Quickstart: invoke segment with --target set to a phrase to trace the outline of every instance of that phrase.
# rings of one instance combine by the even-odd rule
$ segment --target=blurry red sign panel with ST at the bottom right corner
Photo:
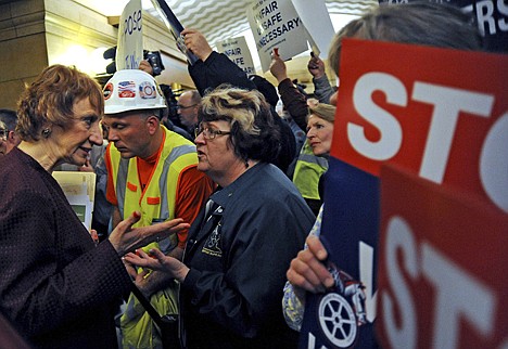
[[[409,172],[381,170],[382,348],[503,348],[508,215]]]

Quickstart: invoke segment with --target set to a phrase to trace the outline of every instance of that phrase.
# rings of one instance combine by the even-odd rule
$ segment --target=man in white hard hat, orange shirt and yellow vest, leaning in
[[[188,223],[198,216],[213,191],[212,181],[198,171],[195,145],[161,124],[166,103],[155,79],[139,69],[116,72],[104,87],[103,127],[109,133],[105,160],[107,199],[115,206],[113,227],[132,211],[137,225],[173,218]],[[166,255],[181,259],[187,231],[158,242]],[[154,243],[156,244],[156,243]],[[158,272],[131,271],[138,288],[150,297],[161,315],[177,313],[177,285]],[[150,315],[130,295],[120,319],[123,347],[160,348],[161,337]]]

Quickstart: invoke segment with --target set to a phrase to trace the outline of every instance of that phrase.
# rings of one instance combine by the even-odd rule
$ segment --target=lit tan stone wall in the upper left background
[[[98,49],[115,46],[117,30],[114,18],[72,0],[1,1],[0,107],[15,108],[24,85],[48,65],[76,65],[91,76],[105,72],[107,62],[97,59]],[[169,30],[147,13],[143,41],[145,50],[162,52],[166,69],[156,78],[160,83],[193,86]]]

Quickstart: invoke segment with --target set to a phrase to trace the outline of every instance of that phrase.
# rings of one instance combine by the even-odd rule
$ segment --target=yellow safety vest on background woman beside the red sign
[[[296,166],[294,167],[293,183],[305,198],[320,199],[319,178],[328,170],[328,160],[316,156],[308,141],[302,146]]]

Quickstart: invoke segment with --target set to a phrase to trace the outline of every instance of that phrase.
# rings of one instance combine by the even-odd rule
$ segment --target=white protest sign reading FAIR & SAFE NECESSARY
[[[291,0],[255,0],[246,15],[263,72],[270,67],[274,49],[284,61],[308,49],[305,27]]]

